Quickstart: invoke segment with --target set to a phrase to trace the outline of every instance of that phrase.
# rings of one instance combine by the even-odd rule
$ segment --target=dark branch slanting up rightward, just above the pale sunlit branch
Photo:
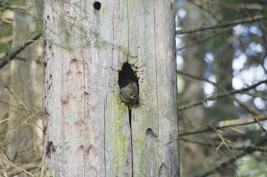
[[[181,111],[183,109],[187,109],[187,108],[191,108],[191,107],[194,107],[196,105],[200,105],[200,104],[203,104],[209,100],[215,100],[215,99],[218,99],[218,98],[222,98],[222,97],[226,97],[228,95],[234,95],[236,93],[242,93],[242,92],[246,92],[248,90],[251,90],[255,87],[257,87],[258,85],[260,84],[263,84],[263,83],[267,83],[267,79],[266,80],[263,80],[263,81],[260,81],[254,85],[251,85],[247,88],[243,88],[243,89],[240,89],[240,90],[231,90],[231,91],[228,91],[228,92],[222,92],[222,93],[218,93],[218,94],[215,94],[215,95],[212,95],[208,98],[205,98],[203,100],[199,100],[199,101],[196,101],[196,102],[192,102],[192,103],[189,103],[189,104],[186,104],[186,105],[182,105],[182,106],[179,106],[178,107],[178,111]]]

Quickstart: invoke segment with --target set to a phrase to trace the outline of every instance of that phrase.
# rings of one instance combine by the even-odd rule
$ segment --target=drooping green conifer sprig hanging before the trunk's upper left
[[[129,58],[133,57],[131,53],[129,52],[128,48],[124,46],[119,46],[107,40],[104,40],[101,34],[98,32],[98,30],[94,27],[93,23],[88,20],[88,12],[82,9],[78,4],[66,2],[66,1],[62,2],[63,3],[62,6],[64,6],[64,4],[67,4],[74,10],[74,12],[77,13],[77,17],[76,17],[76,16],[65,14],[65,12],[61,12],[59,9],[57,9],[57,7],[53,4],[52,1],[48,0],[45,3],[49,3],[51,8],[55,10],[55,12],[58,14],[59,17],[61,17],[62,22],[63,22],[62,24],[64,25],[64,28],[65,28],[64,31],[62,32],[65,34],[66,40],[68,40],[68,38],[73,37],[74,35],[78,35],[81,45],[82,43],[85,42],[89,44],[90,46],[94,48],[98,48],[98,49],[111,48],[111,49],[115,49],[117,51],[122,52],[123,55]],[[34,8],[34,6],[32,8]],[[37,8],[35,7],[35,9]],[[52,33],[53,35],[60,36],[53,29],[51,29],[50,27],[47,27],[47,25],[42,21],[42,17],[39,17],[39,12],[37,10],[35,10],[34,13],[35,13],[34,17],[36,18],[35,20],[36,22],[38,22],[39,28],[43,33],[43,37],[47,40],[47,42],[51,45],[55,45],[59,48],[63,48],[71,52],[72,51],[71,47],[56,43],[53,36],[50,36],[47,33],[44,33],[44,31],[42,30],[43,27],[49,30],[50,33]],[[90,24],[90,27],[82,23],[85,20],[86,22]]]

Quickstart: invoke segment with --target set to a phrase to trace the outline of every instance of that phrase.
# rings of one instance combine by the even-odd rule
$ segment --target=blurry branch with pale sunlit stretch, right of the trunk
[[[232,120],[226,120],[226,121],[219,121],[217,123],[207,125],[207,126],[196,126],[194,127],[194,129],[191,129],[191,130],[181,130],[179,132],[179,135],[184,136],[184,135],[189,135],[189,134],[212,131],[214,129],[221,129],[221,128],[225,128],[229,126],[247,125],[247,124],[252,124],[252,123],[258,123],[258,121],[264,121],[264,120],[267,120],[267,114],[252,116],[252,117],[244,118],[244,119],[232,119]]]

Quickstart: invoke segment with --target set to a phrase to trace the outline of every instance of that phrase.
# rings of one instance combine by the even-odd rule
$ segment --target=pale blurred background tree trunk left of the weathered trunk
[[[36,3],[36,1],[35,1]],[[32,1],[23,0],[20,4],[26,7],[32,5]],[[39,7],[40,8],[40,7]],[[23,10],[22,10],[23,11]],[[14,19],[13,42],[23,42],[25,33],[34,31],[36,25],[29,14],[33,11],[16,12]],[[40,39],[41,40],[41,39]],[[9,138],[13,142],[7,148],[9,160],[14,163],[28,163],[36,158],[36,154],[42,154],[42,121],[36,119],[38,110],[41,113],[42,82],[40,64],[42,46],[29,46],[17,55],[24,59],[10,61],[10,103],[14,107],[9,116]],[[30,58],[25,58],[30,56]],[[39,73],[39,74],[38,74]],[[27,82],[25,82],[27,81]],[[37,122],[36,122],[37,121]],[[18,128],[18,129],[17,129]],[[37,132],[39,131],[39,134]]]

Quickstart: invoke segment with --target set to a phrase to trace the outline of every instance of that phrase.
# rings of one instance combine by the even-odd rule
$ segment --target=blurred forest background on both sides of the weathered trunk
[[[267,174],[266,5],[176,1],[181,176]],[[41,9],[0,0],[1,176],[40,172]]]

